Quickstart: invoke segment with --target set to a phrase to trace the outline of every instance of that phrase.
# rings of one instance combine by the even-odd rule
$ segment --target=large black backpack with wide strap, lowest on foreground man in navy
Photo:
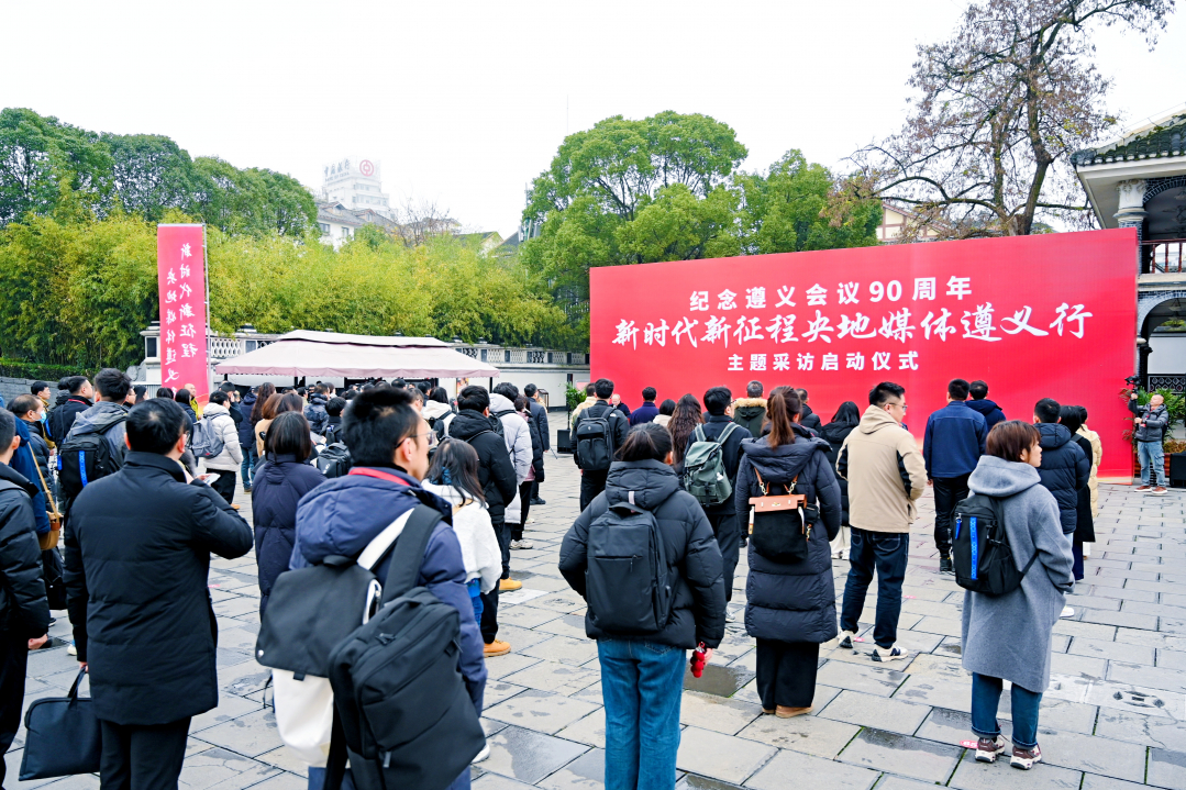
[[[458,665],[458,611],[415,586],[440,518],[423,504],[413,510],[391,553],[381,609],[330,655],[340,732],[336,726],[325,790],[338,790],[347,756],[359,790],[444,790],[485,746]]]

